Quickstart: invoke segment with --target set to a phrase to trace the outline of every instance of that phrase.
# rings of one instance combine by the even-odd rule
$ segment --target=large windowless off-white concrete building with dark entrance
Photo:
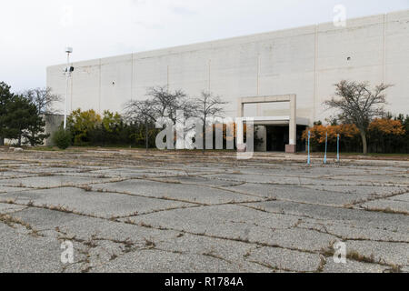
[[[263,125],[262,150],[284,150],[295,145],[306,125],[332,115],[323,102],[343,79],[393,84],[387,109],[409,113],[409,10],[348,19],[345,26],[310,25],[74,66],[69,111],[121,112],[126,101],[144,99],[146,88],[155,85],[192,96],[207,90],[228,102],[226,115],[254,116]],[[47,68],[47,85],[60,95],[65,95],[64,69]],[[287,103],[293,97],[295,112]]]

